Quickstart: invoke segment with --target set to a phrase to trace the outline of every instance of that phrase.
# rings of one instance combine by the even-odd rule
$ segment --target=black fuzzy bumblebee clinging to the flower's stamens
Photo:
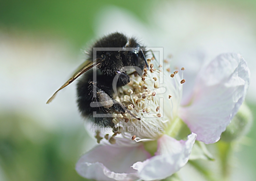
[[[96,51],[96,61],[93,59],[93,48],[89,50],[89,56],[76,73],[60,87],[59,90],[72,83],[77,77],[83,74],[77,83],[77,104],[82,116],[90,118],[94,123],[102,126],[113,126],[112,118],[109,117],[93,117],[93,112],[100,114],[108,114],[110,110],[117,113],[124,113],[124,108],[120,103],[116,102],[113,97],[114,90],[112,87],[113,80],[119,74],[116,81],[117,88],[120,88],[130,82],[130,76],[126,72],[120,70],[126,66],[136,66],[143,69],[148,67],[146,61],[145,47],[141,46],[135,38],[127,38],[122,33],[112,33],[102,37],[92,46],[94,48],[102,48],[102,51]],[[104,51],[104,48],[119,48],[119,51]],[[94,60],[94,61],[93,61]],[[96,66],[96,82],[93,81],[93,69]],[[93,96],[93,87],[96,86],[96,96]],[[55,97],[57,90],[53,96],[47,101],[47,104]],[[107,105],[101,105],[98,102],[105,101]],[[97,106],[91,106],[91,103]],[[98,104],[97,104],[98,103]]]

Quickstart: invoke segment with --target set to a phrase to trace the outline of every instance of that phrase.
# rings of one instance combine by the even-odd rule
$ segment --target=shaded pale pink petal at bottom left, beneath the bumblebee
[[[85,153],[76,163],[82,177],[100,181],[131,181],[139,179],[131,166],[148,158],[143,146],[114,147],[99,145]]]

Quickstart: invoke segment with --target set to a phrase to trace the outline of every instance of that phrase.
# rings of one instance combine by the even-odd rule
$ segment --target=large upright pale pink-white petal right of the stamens
[[[240,54],[221,54],[202,68],[196,78],[189,106],[180,108],[180,118],[197,140],[215,143],[244,101],[250,70]]]

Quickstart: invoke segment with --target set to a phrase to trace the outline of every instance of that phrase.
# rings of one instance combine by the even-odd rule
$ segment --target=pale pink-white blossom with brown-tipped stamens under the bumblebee
[[[131,95],[120,98],[120,101],[127,100],[124,104],[136,116],[125,114],[114,118],[116,125],[129,125],[134,130],[121,129],[120,134],[103,138],[100,145],[85,153],[76,164],[81,176],[120,181],[160,180],[171,176],[187,163],[195,140],[209,144],[220,139],[249,87],[250,71],[246,61],[239,54],[221,54],[198,72],[193,93],[185,101],[188,104],[181,106],[181,83],[184,82],[181,70],[170,76],[168,64],[164,65],[164,84],[158,84],[159,71],[154,68],[158,69],[159,65],[156,61],[152,63],[154,67],[144,75],[145,80],[140,76],[131,77],[132,82],[124,89],[124,94]],[[163,107],[160,98],[163,98]],[[186,140],[175,139],[183,131],[181,120],[191,131]],[[136,126],[141,125],[151,127],[136,130]]]

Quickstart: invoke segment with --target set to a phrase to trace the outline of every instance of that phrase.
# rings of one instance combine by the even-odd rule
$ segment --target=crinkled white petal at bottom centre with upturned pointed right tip
[[[132,168],[138,170],[140,179],[145,181],[169,177],[188,162],[195,140],[195,133],[189,135],[186,141],[177,141],[163,135],[157,140],[156,155],[143,162],[133,164]]]

